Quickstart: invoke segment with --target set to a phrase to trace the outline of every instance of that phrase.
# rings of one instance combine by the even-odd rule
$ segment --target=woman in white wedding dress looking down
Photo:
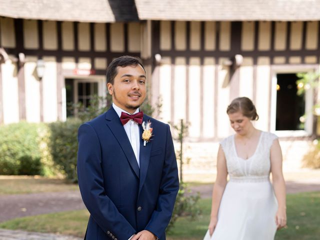
[[[277,136],[254,128],[251,120],[257,120],[258,115],[247,97],[233,99],[226,113],[235,134],[220,142],[210,223],[204,240],[274,239],[276,229],[286,225],[282,154]]]

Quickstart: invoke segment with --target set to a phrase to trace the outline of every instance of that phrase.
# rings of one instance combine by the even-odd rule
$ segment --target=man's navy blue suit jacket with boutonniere
[[[79,127],[78,183],[90,212],[86,239],[127,240],[143,229],[165,239],[179,188],[177,165],[169,126],[144,115],[148,120],[153,136],[145,146],[140,139],[140,168],[112,107]]]

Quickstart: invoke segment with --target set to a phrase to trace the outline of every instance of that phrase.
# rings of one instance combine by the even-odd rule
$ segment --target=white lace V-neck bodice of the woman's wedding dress
[[[220,142],[230,179],[265,180],[270,174],[270,148],[277,136],[270,132],[261,131],[255,152],[248,159],[237,156],[234,136],[231,135]]]

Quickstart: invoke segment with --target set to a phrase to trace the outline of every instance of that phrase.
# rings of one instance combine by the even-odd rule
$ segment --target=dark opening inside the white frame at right
[[[303,130],[300,116],[305,112],[305,97],[297,95],[295,73],[276,74],[276,116],[275,130]]]

